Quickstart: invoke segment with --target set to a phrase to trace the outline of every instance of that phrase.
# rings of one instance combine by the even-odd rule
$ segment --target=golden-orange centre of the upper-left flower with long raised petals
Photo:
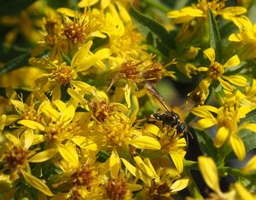
[[[70,83],[75,77],[75,72],[66,63],[62,63],[55,71],[53,71],[55,81],[61,84]]]

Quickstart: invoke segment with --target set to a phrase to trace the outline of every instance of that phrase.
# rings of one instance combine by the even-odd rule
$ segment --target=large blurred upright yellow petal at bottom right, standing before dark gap
[[[198,164],[203,179],[213,191],[219,193],[218,170],[211,157],[198,157]]]

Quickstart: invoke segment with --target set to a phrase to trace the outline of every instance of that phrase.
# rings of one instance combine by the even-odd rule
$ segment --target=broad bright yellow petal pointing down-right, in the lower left
[[[79,165],[79,155],[75,148],[73,146],[65,146],[58,144],[58,150],[61,153],[61,156],[68,162],[68,163],[73,163],[76,166]]]

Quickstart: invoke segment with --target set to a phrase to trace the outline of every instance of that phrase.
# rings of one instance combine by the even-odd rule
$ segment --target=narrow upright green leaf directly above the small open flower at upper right
[[[210,47],[212,47],[215,50],[216,60],[221,63],[223,61],[221,38],[218,31],[218,25],[217,25],[216,19],[211,9],[208,9],[208,16],[209,16]]]

